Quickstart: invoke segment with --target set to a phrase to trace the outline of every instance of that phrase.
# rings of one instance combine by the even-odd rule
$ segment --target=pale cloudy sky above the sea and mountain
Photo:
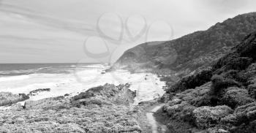
[[[255,0],[0,0],[0,63],[113,63],[255,11]]]

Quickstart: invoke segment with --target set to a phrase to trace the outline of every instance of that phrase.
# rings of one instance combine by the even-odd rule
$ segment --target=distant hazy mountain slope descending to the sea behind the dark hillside
[[[206,31],[167,42],[147,42],[124,52],[115,66],[173,69],[180,72],[208,66],[256,29],[256,12],[238,15]]]

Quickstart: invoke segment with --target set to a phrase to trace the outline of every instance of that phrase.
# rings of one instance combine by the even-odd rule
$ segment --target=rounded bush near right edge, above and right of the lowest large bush
[[[224,104],[229,107],[235,108],[244,104],[255,102],[255,99],[249,97],[248,91],[243,88],[227,88],[227,92],[223,97]]]

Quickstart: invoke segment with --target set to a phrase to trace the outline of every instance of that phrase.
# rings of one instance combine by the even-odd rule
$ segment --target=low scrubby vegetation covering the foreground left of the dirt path
[[[71,99],[60,96],[26,102],[25,109],[0,110],[0,132],[142,132],[138,108],[128,105],[134,98],[128,86],[106,84]]]

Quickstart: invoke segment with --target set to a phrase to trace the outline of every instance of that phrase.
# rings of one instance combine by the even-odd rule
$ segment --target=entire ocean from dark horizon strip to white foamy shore
[[[31,96],[29,100],[69,94],[74,96],[89,88],[112,83],[130,83],[137,91],[136,103],[162,96],[165,83],[151,73],[135,73],[118,69],[105,72],[108,64],[0,64],[0,92],[29,94],[39,88],[50,91]]]

